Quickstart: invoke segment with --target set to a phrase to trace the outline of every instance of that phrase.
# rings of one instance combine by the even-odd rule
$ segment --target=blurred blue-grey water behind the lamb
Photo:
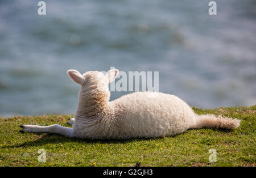
[[[256,1],[0,1],[0,115],[73,113],[82,73],[159,71],[188,104],[256,104]],[[112,92],[112,100],[126,92]]]

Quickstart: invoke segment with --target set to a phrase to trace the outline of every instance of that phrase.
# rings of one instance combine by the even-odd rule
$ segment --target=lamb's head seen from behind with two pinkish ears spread
[[[88,71],[80,74],[77,70],[68,70],[69,77],[81,85],[79,99],[96,99],[109,101],[110,91],[109,83],[113,82],[119,71],[117,69],[109,70],[105,75],[100,71]]]

